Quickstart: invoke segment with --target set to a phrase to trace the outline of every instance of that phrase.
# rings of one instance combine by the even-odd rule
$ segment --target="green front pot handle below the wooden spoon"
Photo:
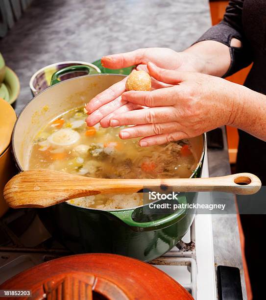
[[[150,221],[150,222],[136,222],[132,219],[132,214],[134,210],[135,209],[126,210],[126,211],[108,211],[108,213],[120,219],[123,223],[130,226],[134,231],[150,231],[150,230],[163,229],[168,227],[169,225],[181,221],[187,214],[187,208],[182,208],[178,210],[178,212],[170,214],[169,216],[159,220]]]

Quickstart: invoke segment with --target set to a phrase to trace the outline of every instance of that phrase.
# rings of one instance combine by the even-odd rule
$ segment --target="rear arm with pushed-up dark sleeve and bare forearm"
[[[228,76],[252,62],[252,50],[242,24],[243,2],[230,0],[223,20],[185,51],[198,58],[198,72]]]

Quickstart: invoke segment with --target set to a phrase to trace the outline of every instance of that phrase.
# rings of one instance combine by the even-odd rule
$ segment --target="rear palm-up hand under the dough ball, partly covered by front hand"
[[[199,72],[199,59],[190,52],[175,52],[167,48],[146,48],[131,52],[104,56],[101,59],[103,67],[120,69],[136,65],[137,70],[147,70],[147,63],[152,62],[160,68],[178,71]],[[112,85],[107,90],[98,94],[88,104],[86,110],[89,117],[86,122],[93,126],[100,122],[102,127],[108,127],[109,121],[116,114],[142,108],[141,105],[121,100],[121,94],[125,92],[126,78]],[[152,88],[164,88],[166,85],[152,78]]]

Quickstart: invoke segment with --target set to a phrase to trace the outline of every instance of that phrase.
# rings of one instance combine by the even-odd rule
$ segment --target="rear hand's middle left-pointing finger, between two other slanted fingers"
[[[121,100],[121,97],[119,97],[111,101],[110,103],[101,106],[99,109],[97,109],[87,117],[87,125],[94,126],[95,124],[99,123],[105,116],[109,115],[126,103],[127,101]]]

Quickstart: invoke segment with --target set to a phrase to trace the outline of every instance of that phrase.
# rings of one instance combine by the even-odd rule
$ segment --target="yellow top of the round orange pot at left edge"
[[[0,154],[8,147],[17,116],[12,106],[0,98]]]

